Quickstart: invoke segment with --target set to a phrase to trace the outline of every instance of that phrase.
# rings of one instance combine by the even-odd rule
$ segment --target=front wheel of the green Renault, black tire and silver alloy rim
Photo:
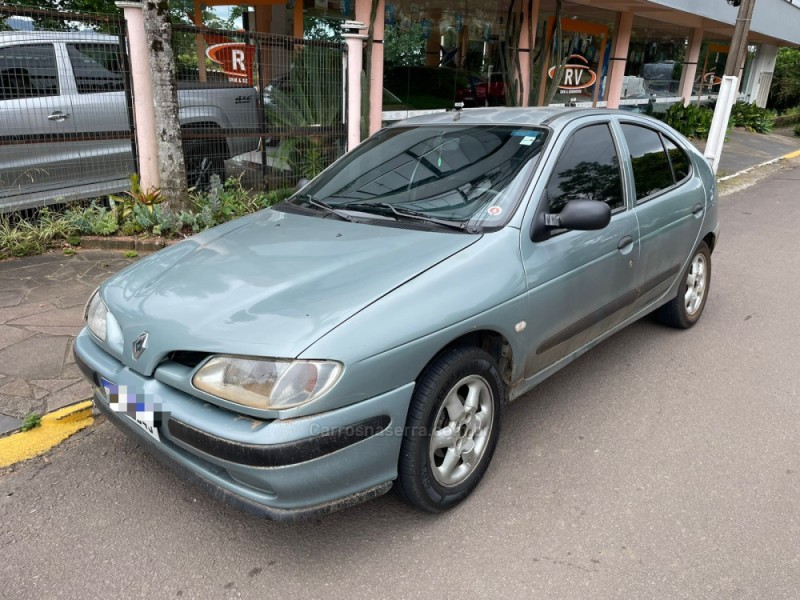
[[[505,384],[478,348],[438,356],[417,382],[400,449],[395,489],[408,504],[436,513],[480,482],[500,437]]]

